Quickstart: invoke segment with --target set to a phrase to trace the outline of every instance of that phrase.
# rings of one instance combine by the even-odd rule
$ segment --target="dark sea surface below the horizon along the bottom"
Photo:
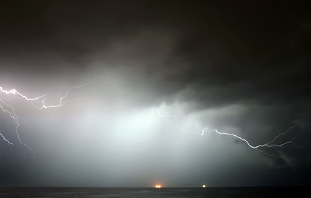
[[[307,187],[258,188],[0,188],[0,197],[309,197]],[[307,193],[303,195],[301,193]]]

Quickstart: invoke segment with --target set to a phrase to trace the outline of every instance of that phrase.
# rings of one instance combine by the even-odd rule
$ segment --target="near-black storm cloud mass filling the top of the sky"
[[[149,70],[147,75],[160,73],[168,86],[171,81],[176,84],[167,92],[229,87],[227,95],[221,89],[215,93],[220,103],[229,96],[283,100],[308,92],[305,70],[310,62],[310,21],[305,16],[308,9],[296,3],[30,2],[3,3],[1,43],[6,44],[1,48],[11,61],[32,62],[25,67],[31,72],[59,72],[68,66],[85,70],[92,55],[100,52],[117,63],[133,61],[130,67],[143,65]],[[141,32],[146,30],[170,34],[173,43],[167,41],[169,45],[153,52],[149,44],[153,48],[163,37],[154,34],[142,39],[144,45],[137,48],[133,43],[144,37]],[[115,42],[121,50],[122,44],[129,44],[125,46],[129,49],[116,51],[113,57],[109,52]],[[169,54],[158,63],[144,59],[165,48],[170,48]],[[126,53],[130,55],[126,57]],[[59,59],[66,66],[44,66]]]

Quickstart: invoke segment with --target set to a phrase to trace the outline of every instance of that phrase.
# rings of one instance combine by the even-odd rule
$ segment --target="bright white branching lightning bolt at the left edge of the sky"
[[[13,88],[12,90],[5,90],[2,87],[0,87],[0,94],[2,92],[3,94],[6,94],[8,96],[10,96],[10,95],[15,96],[15,97],[10,97],[8,99],[0,97],[0,108],[11,119],[13,119],[13,124],[15,125],[15,133],[17,135],[17,139],[19,140],[19,145],[21,146],[21,148],[22,148],[22,146],[25,146],[26,148],[28,148],[32,152],[32,154],[34,154],[32,148],[30,148],[30,146],[28,146],[26,143],[23,143],[23,141],[21,140],[21,137],[19,135],[19,127],[21,126],[21,122],[20,122],[21,117],[17,116],[17,114],[15,112],[15,107],[11,106],[8,102],[10,102],[12,99],[23,99],[26,101],[30,101],[32,103],[32,105],[35,106],[35,108],[37,108],[39,110],[47,109],[47,108],[59,108],[61,106],[64,106],[68,102],[75,101],[76,99],[78,99],[78,98],[76,98],[76,99],[66,100],[66,98],[70,94],[70,91],[77,89],[77,88],[82,88],[83,86],[86,86],[88,84],[89,83],[85,83],[85,84],[82,84],[81,86],[74,86],[72,88],[69,88],[66,91],[66,94],[64,96],[62,96],[62,97],[59,96],[59,101],[55,105],[49,105],[49,106],[47,106],[45,103],[48,93],[46,93],[45,95],[40,95],[39,97],[30,98],[30,97],[27,97],[26,95],[23,95],[21,92],[17,91],[15,88]],[[34,101],[39,101],[39,103],[41,103],[41,106],[36,106]],[[6,141],[10,145],[13,145],[13,143],[11,141],[9,141],[8,139],[6,139],[6,137],[1,132],[0,132],[0,136],[2,137],[3,141]]]

